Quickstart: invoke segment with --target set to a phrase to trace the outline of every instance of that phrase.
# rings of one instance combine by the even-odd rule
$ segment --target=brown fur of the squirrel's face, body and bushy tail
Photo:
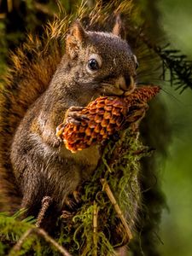
[[[125,9],[125,2],[118,12]],[[86,26],[98,27],[110,15],[109,7],[103,14],[96,6]],[[85,13],[80,10],[81,20]],[[64,40],[69,20],[49,25],[43,40],[29,37],[12,56],[14,64],[0,96],[1,211],[14,212],[21,206],[37,216],[42,198],[50,195],[61,212],[67,195],[95,170],[100,152],[92,147],[70,153],[55,137],[56,126],[68,108],[83,107],[96,96],[116,94],[117,81],[124,77],[129,84],[130,75],[136,75],[136,63],[125,41],[108,32],[84,31],[79,22]],[[119,32],[118,25],[114,26],[115,33]],[[102,68],[92,74],[85,68],[91,53],[102,58]]]

